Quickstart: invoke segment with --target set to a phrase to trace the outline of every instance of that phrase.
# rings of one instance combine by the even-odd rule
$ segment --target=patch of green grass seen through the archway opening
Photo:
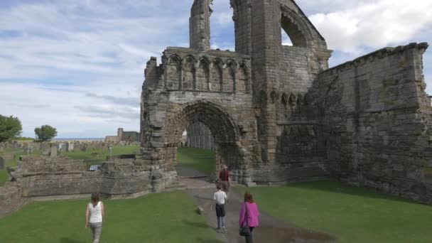
[[[177,163],[180,166],[189,166],[210,175],[215,173],[215,152],[202,148],[177,148]]]

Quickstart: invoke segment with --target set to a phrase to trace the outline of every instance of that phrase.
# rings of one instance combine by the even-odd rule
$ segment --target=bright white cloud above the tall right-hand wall
[[[432,27],[432,1],[359,1],[356,6],[311,16],[330,48],[355,53],[405,43]],[[426,41],[426,40],[425,40]]]

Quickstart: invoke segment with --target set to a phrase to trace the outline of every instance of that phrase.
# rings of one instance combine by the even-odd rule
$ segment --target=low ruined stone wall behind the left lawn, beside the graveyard
[[[33,200],[89,198],[95,192],[104,198],[136,198],[184,189],[175,171],[160,171],[140,158],[102,163],[93,172],[82,160],[23,156],[10,180],[0,187],[0,218]]]

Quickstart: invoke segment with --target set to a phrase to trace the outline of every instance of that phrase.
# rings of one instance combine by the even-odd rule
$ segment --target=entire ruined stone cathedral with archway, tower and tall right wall
[[[176,180],[183,131],[201,123],[217,169],[247,185],[337,178],[432,200],[427,43],[328,68],[332,50],[293,0],[231,0],[235,51],[210,49],[210,0],[190,11],[190,48],[146,65],[141,159],[153,185]],[[281,30],[292,46],[282,45]],[[157,183],[154,183],[157,182]]]

